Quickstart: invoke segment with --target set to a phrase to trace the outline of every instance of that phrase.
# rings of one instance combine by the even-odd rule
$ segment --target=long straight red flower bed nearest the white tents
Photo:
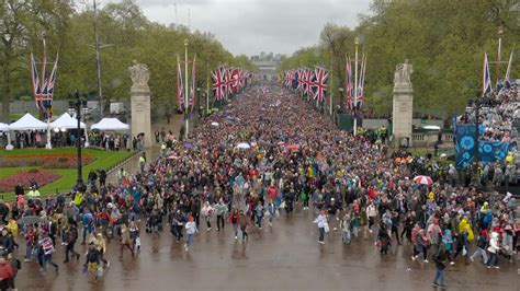
[[[81,161],[87,165],[94,161],[91,154],[83,154]],[[74,168],[78,156],[72,153],[41,153],[0,155],[0,167],[41,166],[45,168]]]

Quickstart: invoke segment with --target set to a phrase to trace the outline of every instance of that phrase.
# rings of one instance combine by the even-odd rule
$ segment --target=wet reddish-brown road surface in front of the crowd
[[[108,245],[111,267],[94,283],[82,264],[63,264],[64,246],[57,246],[54,261],[59,273],[48,267],[39,272],[37,263],[23,264],[16,277],[19,290],[434,290],[431,281],[434,265],[411,261],[411,247],[394,245],[382,257],[375,238],[341,244],[341,235],[327,235],[324,246],[317,243],[317,228],[312,210],[297,208],[292,217],[282,214],[262,230],[250,226],[250,238],[235,241],[230,224],[224,232],[200,233],[186,253],[168,231],[154,238],[142,229],[143,248],[132,257],[125,251],[118,259],[118,243]],[[215,223],[216,224],[216,223]],[[215,226],[215,225],[214,225]],[[22,237],[19,254],[24,254]],[[83,245],[77,245],[82,253]],[[472,247],[472,249],[474,249]],[[19,255],[22,256],[22,255]],[[464,266],[461,258],[446,267],[449,290],[520,290],[518,263],[500,258],[501,269],[486,269],[482,264]]]

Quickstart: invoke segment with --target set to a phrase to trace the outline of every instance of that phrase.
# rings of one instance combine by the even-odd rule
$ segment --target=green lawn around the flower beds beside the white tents
[[[118,152],[106,152],[97,149],[83,149],[83,153],[89,153],[95,158],[93,162],[83,166],[83,181],[87,182],[87,176],[89,175],[90,170],[110,170],[118,162],[126,160],[132,155],[131,152],[118,151]],[[76,153],[75,148],[65,148],[65,149],[24,149],[24,150],[12,150],[5,151],[0,150],[0,155],[10,155],[10,154],[37,154],[37,153]],[[20,171],[26,171],[31,167],[4,167],[0,168],[0,178],[10,176]],[[69,191],[72,186],[76,184],[78,172],[76,168],[53,168],[54,172],[58,173],[61,177],[48,185],[45,185],[39,189],[42,195],[55,194],[56,190],[60,193]],[[3,194],[5,200],[13,198],[14,193]]]

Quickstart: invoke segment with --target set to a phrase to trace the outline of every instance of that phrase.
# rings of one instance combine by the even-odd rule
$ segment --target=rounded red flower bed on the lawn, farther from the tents
[[[27,172],[19,172],[14,175],[0,179],[0,191],[12,191],[20,182],[25,189],[31,186],[31,182],[36,182],[39,187],[49,184],[61,176],[48,170],[33,168]]]

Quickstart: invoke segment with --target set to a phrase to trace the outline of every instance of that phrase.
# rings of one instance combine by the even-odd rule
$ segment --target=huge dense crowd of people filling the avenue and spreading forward
[[[343,244],[373,237],[383,256],[394,245],[410,248],[410,261],[436,263],[433,284],[440,287],[448,264],[481,260],[498,268],[516,258],[515,197],[478,191],[450,175],[417,183],[414,177],[428,174],[422,166],[431,164],[428,158],[389,156],[385,144],[340,131],[282,88],[252,86],[207,117],[188,140],[168,141],[157,161],[140,156],[139,171],[121,168],[114,185],[98,187],[92,177],[89,190],[75,190],[71,201],[20,195],[5,207],[0,245],[16,254],[15,242],[25,238],[26,264],[36,259],[42,271],[47,265],[58,271],[53,253],[59,242],[64,264],[81,259],[75,248],[80,242],[87,246],[84,268],[98,280],[110,267],[106,245],[116,241],[121,258],[125,249],[135,256],[140,228],[148,235],[170,232],[190,252],[201,228],[224,231],[229,223],[230,240],[248,244],[250,229],[262,231],[294,211],[312,211],[320,245],[336,243],[327,235],[337,231]],[[14,278],[2,268],[13,270],[15,263],[0,260],[0,277]]]

